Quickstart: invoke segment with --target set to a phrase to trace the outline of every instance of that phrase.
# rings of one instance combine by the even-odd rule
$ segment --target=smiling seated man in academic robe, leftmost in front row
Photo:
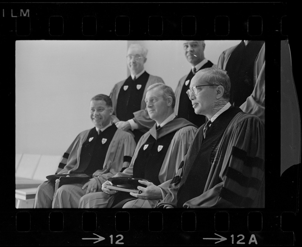
[[[103,182],[129,166],[136,144],[132,135],[110,121],[112,101],[104,94],[90,101],[94,128],[81,132],[64,153],[57,174],[87,174],[86,183],[65,184],[54,194],[55,184],[43,182],[37,190],[34,208],[70,208],[79,199],[101,188]]]

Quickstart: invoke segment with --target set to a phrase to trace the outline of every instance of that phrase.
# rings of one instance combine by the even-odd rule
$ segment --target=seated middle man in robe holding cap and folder
[[[139,140],[130,166],[114,177],[143,178],[137,186],[141,194],[109,190],[106,181],[102,192],[90,193],[80,199],[80,208],[124,207],[154,208],[165,196],[162,188],[172,179],[193,140],[196,126],[174,114],[175,95],[171,87],[156,83],[148,87],[145,98],[147,111],[156,123]]]

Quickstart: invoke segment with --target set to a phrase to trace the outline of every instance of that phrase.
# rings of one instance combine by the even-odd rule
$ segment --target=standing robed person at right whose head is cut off
[[[231,79],[230,103],[265,120],[265,42],[242,40],[223,51],[217,67]]]

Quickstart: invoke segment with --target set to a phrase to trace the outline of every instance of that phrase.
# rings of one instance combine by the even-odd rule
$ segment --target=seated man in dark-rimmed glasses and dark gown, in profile
[[[264,207],[264,124],[229,103],[225,70],[202,69],[187,91],[207,117],[158,207]]]

